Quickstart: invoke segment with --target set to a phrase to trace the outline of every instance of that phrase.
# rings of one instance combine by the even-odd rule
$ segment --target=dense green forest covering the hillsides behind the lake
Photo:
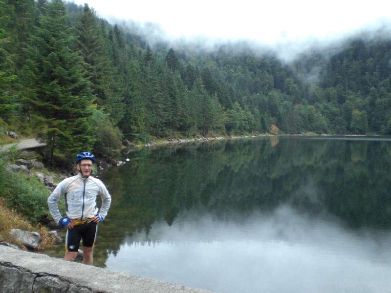
[[[0,0],[0,132],[39,137],[50,160],[123,139],[391,134],[391,38],[335,45],[290,62],[246,43],[152,46],[87,4]]]

